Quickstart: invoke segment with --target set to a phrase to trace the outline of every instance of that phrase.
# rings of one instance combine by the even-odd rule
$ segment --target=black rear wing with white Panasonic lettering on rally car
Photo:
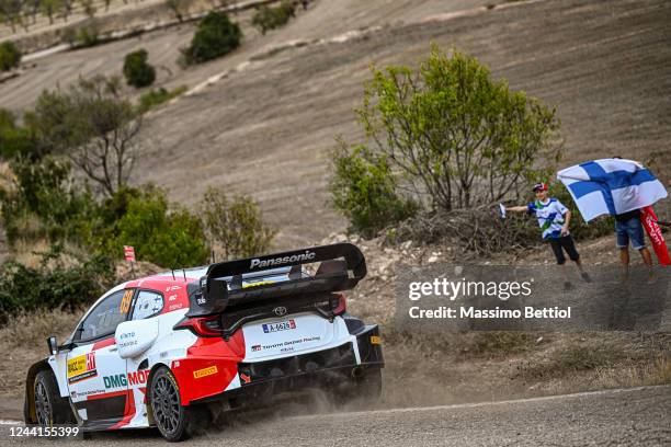
[[[320,264],[316,274],[305,277],[300,266],[317,262]],[[259,285],[242,286],[242,275],[271,270],[276,272],[278,267],[292,267],[283,273],[288,274],[288,280],[278,283],[261,280]],[[269,272],[268,276],[272,274],[273,272]],[[366,261],[361,250],[351,243],[336,243],[221,262],[212,264],[207,268],[207,275],[201,278],[186,316],[219,313],[230,302],[241,303],[288,295],[350,290],[364,276],[366,276]],[[263,275],[259,277],[262,278]]]

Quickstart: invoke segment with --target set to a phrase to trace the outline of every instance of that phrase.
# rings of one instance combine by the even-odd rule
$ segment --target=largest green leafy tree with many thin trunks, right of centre
[[[560,156],[555,110],[494,81],[471,56],[433,46],[418,70],[372,72],[356,111],[369,150],[433,209],[500,200]]]

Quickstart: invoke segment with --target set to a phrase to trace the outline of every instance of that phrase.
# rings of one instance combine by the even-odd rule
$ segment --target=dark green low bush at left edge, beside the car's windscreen
[[[114,280],[114,264],[109,257],[92,256],[66,266],[56,252],[43,255],[36,268],[15,261],[0,265],[0,319],[18,311],[35,309],[75,310],[90,305]]]

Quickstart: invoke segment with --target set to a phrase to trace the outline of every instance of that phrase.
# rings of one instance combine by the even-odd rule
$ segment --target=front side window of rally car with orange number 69
[[[79,340],[86,341],[113,334],[126,319],[133,289],[120,290],[103,299],[81,322]]]

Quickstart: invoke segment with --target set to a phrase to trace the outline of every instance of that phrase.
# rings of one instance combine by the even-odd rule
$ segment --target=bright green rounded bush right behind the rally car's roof
[[[114,259],[122,257],[123,245],[135,247],[138,260],[163,267],[201,265],[208,259],[198,218],[185,209],[170,209],[160,190],[123,190],[104,208],[103,226],[105,217],[115,217],[115,224],[100,231],[99,244]]]

